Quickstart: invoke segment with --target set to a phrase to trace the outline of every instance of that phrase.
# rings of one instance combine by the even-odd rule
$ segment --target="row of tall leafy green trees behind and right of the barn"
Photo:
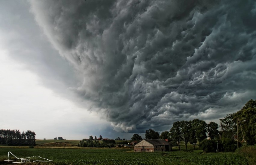
[[[203,140],[204,143],[202,145],[204,147],[207,146],[206,144],[215,145],[215,142],[219,140],[219,145],[223,146],[223,150],[228,151],[234,150],[235,140],[253,145],[256,143],[256,100],[249,100],[240,111],[227,114],[226,117],[220,119],[220,126],[221,131],[218,131],[219,126],[215,122],[207,124],[199,119],[176,121],[169,132],[164,131],[161,135],[152,129],[146,130],[145,138],[168,139],[173,145],[177,142],[179,149],[181,140],[184,141],[186,149],[187,143],[195,146],[197,142],[201,143]],[[205,140],[206,133],[212,141]],[[215,142],[213,142],[214,139]],[[134,134],[132,140],[142,140],[142,137],[139,134]],[[215,147],[217,146],[215,145]],[[214,146],[210,148],[214,149]]]

